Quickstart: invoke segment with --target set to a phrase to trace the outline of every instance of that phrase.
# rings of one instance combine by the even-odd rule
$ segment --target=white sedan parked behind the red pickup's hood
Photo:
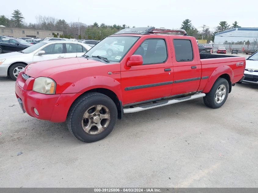
[[[10,75],[16,80],[18,74],[30,63],[82,56],[90,48],[74,41],[42,41],[20,52],[0,54],[0,77]]]

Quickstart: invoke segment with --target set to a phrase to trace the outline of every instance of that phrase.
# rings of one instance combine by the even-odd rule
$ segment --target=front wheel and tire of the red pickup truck
[[[79,97],[71,105],[66,123],[76,138],[83,142],[94,142],[111,133],[117,121],[117,114],[116,105],[111,98],[98,92],[90,92]]]

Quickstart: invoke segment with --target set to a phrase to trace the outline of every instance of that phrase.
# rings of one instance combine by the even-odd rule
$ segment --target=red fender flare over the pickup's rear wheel
[[[207,82],[207,84],[205,85],[204,89],[203,89],[203,93],[208,93],[213,84],[215,83],[215,81],[222,75],[222,74],[227,74],[230,77],[230,82],[233,80],[234,77],[234,73],[233,70],[231,69],[231,67],[223,65],[223,66],[219,66],[218,68],[216,68],[216,70],[213,71],[213,73],[211,74],[211,76],[209,77],[209,80]],[[231,86],[231,85],[229,85]]]

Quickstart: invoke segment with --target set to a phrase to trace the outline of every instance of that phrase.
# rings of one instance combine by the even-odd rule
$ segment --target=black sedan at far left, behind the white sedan
[[[0,53],[17,52],[30,47],[31,44],[22,39],[5,38],[0,40]],[[1,55],[2,56],[2,55]]]

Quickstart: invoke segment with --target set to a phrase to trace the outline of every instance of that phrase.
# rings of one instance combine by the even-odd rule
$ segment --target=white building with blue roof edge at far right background
[[[215,34],[214,43],[223,44],[227,42],[250,41],[258,39],[258,28],[238,27]]]

